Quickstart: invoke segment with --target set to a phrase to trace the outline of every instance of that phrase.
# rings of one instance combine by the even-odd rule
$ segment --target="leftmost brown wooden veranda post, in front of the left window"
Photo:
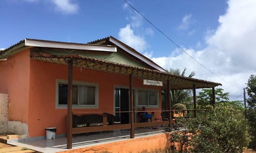
[[[67,149],[72,149],[72,88],[73,88],[73,61],[68,60]]]

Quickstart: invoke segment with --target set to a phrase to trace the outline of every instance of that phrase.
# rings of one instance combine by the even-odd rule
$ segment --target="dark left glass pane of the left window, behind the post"
[[[68,104],[68,84],[59,84],[59,105]],[[73,85],[73,105],[77,105],[77,86]]]

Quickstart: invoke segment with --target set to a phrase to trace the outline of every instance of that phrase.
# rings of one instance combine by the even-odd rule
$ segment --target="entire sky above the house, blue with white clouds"
[[[0,48],[25,38],[86,43],[112,35],[165,69],[187,68],[188,73],[196,72],[196,78],[223,84],[225,92],[235,93],[231,99],[256,73],[255,0],[129,3],[232,85],[177,49],[123,0],[1,0]]]

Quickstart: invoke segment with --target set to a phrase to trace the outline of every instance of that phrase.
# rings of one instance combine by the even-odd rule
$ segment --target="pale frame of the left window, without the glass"
[[[67,105],[59,105],[59,84],[68,84],[68,80],[56,79],[55,89],[55,108],[67,109]],[[73,81],[73,85],[88,85],[95,87],[95,105],[79,105],[79,95],[77,97],[78,105],[72,105],[73,109],[98,109],[99,108],[99,84],[90,82]],[[79,87],[78,87],[79,88]]]

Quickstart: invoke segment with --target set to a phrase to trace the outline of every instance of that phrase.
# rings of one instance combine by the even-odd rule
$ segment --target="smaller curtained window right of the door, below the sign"
[[[158,106],[157,91],[138,90],[139,106]]]

